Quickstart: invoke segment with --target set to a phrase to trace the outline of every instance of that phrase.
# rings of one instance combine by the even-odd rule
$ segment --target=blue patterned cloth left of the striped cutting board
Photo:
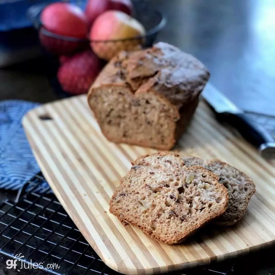
[[[18,190],[40,171],[21,123],[25,113],[38,105],[21,100],[0,102],[0,188]],[[36,191],[45,188],[48,183],[42,182]]]

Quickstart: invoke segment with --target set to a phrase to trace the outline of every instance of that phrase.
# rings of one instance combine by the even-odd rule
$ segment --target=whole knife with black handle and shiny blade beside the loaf
[[[233,126],[251,144],[256,146],[264,158],[275,158],[274,138],[225,95],[208,83],[202,93],[204,99],[214,109],[217,119]]]

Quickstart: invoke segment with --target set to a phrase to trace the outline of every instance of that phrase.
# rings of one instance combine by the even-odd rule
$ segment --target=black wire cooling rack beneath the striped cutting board
[[[56,275],[117,275],[84,239],[51,192],[34,192],[44,182],[37,174],[19,192],[15,202],[0,205],[0,253],[16,261],[16,268],[36,266]],[[30,188],[31,186],[31,188]],[[10,262],[11,264],[14,262]],[[30,271],[35,274],[36,270]],[[174,272],[178,275],[234,274],[232,262]]]

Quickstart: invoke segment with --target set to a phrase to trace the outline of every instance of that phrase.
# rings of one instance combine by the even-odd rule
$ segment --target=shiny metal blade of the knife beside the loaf
[[[241,113],[242,111],[225,95],[208,83],[203,90],[203,98],[215,109],[217,113]]]

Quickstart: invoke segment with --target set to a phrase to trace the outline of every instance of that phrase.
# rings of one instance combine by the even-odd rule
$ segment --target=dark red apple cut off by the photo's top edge
[[[133,3],[131,0],[89,0],[85,9],[89,26],[101,13],[113,9],[131,15],[133,13]]]

